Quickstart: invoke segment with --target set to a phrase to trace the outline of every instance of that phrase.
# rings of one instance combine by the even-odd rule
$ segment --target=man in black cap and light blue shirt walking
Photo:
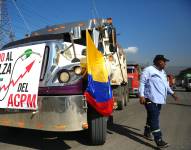
[[[147,111],[147,121],[144,130],[144,136],[152,140],[151,133],[154,136],[156,145],[159,148],[168,147],[162,139],[162,133],[159,127],[159,116],[162,104],[166,104],[167,94],[171,94],[175,100],[178,97],[169,87],[164,68],[169,60],[164,55],[156,55],[153,60],[153,66],[146,67],[140,79],[140,103],[145,105]]]

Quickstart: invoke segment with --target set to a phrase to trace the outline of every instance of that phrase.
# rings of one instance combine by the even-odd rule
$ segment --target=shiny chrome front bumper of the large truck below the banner
[[[38,110],[0,109],[0,125],[45,131],[79,131],[88,128],[83,95],[39,96]]]

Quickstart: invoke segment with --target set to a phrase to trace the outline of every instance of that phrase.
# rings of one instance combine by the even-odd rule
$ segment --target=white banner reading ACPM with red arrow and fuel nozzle
[[[38,109],[45,44],[0,51],[0,108]]]

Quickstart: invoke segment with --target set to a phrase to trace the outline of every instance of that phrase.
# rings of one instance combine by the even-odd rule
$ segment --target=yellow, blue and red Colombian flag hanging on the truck
[[[109,116],[113,110],[112,89],[103,54],[95,47],[86,30],[88,86],[85,91],[87,102],[97,112]]]

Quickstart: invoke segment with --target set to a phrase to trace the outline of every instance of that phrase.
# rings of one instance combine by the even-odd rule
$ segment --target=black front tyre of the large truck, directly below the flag
[[[107,118],[92,107],[88,107],[88,134],[92,145],[103,145],[106,141]]]

